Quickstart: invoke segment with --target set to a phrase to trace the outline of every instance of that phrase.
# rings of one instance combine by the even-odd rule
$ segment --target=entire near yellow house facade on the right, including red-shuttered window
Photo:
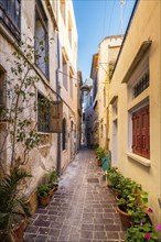
[[[112,165],[149,194],[161,222],[161,2],[139,1],[109,87]]]

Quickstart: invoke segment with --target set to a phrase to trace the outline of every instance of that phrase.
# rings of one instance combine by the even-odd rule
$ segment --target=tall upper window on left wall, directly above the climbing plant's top
[[[45,76],[49,76],[49,35],[47,18],[42,2],[35,1],[35,64]]]

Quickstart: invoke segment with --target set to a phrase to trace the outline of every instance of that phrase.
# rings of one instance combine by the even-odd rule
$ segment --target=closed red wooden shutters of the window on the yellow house
[[[150,158],[149,106],[132,113],[132,152]]]

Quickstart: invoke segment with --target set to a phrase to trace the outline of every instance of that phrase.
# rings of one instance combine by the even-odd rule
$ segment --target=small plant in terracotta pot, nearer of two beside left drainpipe
[[[47,184],[42,184],[37,187],[39,201],[42,206],[50,204],[50,188]]]

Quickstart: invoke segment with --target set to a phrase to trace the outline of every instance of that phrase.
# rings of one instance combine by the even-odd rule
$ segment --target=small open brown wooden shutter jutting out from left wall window
[[[63,102],[52,101],[51,102],[51,120],[50,131],[51,133],[62,133],[62,120],[63,120]]]

